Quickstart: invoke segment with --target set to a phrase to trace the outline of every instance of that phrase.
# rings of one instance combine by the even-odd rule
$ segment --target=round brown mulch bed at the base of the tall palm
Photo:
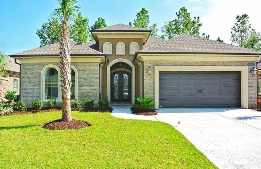
[[[80,120],[72,120],[70,122],[64,122],[61,119],[48,122],[43,126],[45,129],[49,130],[66,130],[66,129],[81,129],[89,127],[87,122],[82,122]]]

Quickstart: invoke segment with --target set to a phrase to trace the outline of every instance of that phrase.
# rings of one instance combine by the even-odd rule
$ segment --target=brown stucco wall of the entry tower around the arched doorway
[[[115,59],[123,58],[132,62],[134,55],[130,55],[130,43],[137,42],[139,44],[139,50],[142,49],[143,43],[142,39],[136,38],[117,38],[117,39],[99,39],[99,51],[103,52],[103,43],[111,42],[112,43],[112,55],[108,55],[110,62]],[[116,55],[116,45],[118,42],[125,43],[125,55]],[[103,83],[102,83],[102,96],[105,99],[107,96],[107,66],[109,63],[103,65]],[[138,64],[133,63],[135,65],[135,96],[140,96],[140,68]],[[108,98],[110,100],[110,98]]]

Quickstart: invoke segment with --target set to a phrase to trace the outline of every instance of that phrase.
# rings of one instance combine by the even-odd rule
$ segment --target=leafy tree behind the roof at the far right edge
[[[231,42],[253,50],[261,50],[261,36],[260,32],[251,29],[249,24],[249,17],[247,14],[236,16],[236,23],[231,30]]]

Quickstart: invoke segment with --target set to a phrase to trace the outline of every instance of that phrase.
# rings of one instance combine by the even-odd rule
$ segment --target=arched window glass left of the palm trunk
[[[45,99],[55,98],[58,100],[59,74],[54,68],[49,68],[45,72]]]

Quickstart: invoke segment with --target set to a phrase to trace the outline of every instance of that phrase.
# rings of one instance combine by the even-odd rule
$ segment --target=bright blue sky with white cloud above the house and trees
[[[36,29],[48,22],[50,13],[57,8],[57,0],[1,0],[0,51],[12,55],[40,46]],[[100,16],[106,24],[128,24],[144,7],[148,10],[150,24],[157,23],[160,35],[165,22],[176,18],[176,11],[186,7],[191,17],[199,16],[200,33],[218,36],[231,43],[231,28],[236,16],[248,14],[252,28],[261,32],[260,0],[79,0],[82,16],[89,18],[89,25]]]

